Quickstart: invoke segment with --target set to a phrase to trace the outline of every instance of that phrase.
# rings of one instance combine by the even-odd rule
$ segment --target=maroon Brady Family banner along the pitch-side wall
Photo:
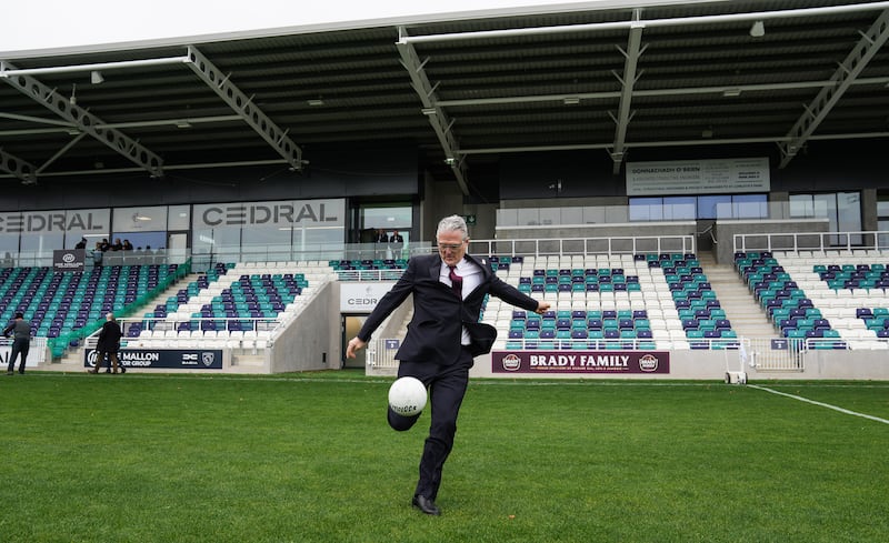
[[[493,351],[495,373],[670,373],[667,351]]]

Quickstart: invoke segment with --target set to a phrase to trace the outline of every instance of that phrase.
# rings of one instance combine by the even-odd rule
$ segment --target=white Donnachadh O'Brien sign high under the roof
[[[677,160],[627,163],[627,195],[769,192],[769,159]]]

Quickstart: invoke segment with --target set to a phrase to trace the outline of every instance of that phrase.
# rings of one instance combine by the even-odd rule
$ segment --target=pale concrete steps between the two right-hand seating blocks
[[[733,267],[717,264],[712,254],[698,254],[707,279],[718,293],[719,303],[731,321],[731,329],[743,338],[779,338],[766,313],[760,309],[747,284]]]

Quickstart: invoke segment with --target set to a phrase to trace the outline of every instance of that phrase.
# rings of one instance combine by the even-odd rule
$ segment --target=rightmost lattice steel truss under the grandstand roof
[[[789,141],[778,143],[782,155],[779,168],[787,167],[793,160],[887,39],[889,39],[889,10],[881,12],[867,32],[861,32],[861,39],[830,78],[835,84],[821,88],[815,100],[803,105],[802,115],[787,134]]]

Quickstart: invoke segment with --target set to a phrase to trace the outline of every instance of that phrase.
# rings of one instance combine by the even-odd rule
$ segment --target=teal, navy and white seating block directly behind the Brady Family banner
[[[558,302],[547,314],[500,309],[482,320],[500,349],[736,349],[737,334],[690,253],[490,258],[501,279]]]

